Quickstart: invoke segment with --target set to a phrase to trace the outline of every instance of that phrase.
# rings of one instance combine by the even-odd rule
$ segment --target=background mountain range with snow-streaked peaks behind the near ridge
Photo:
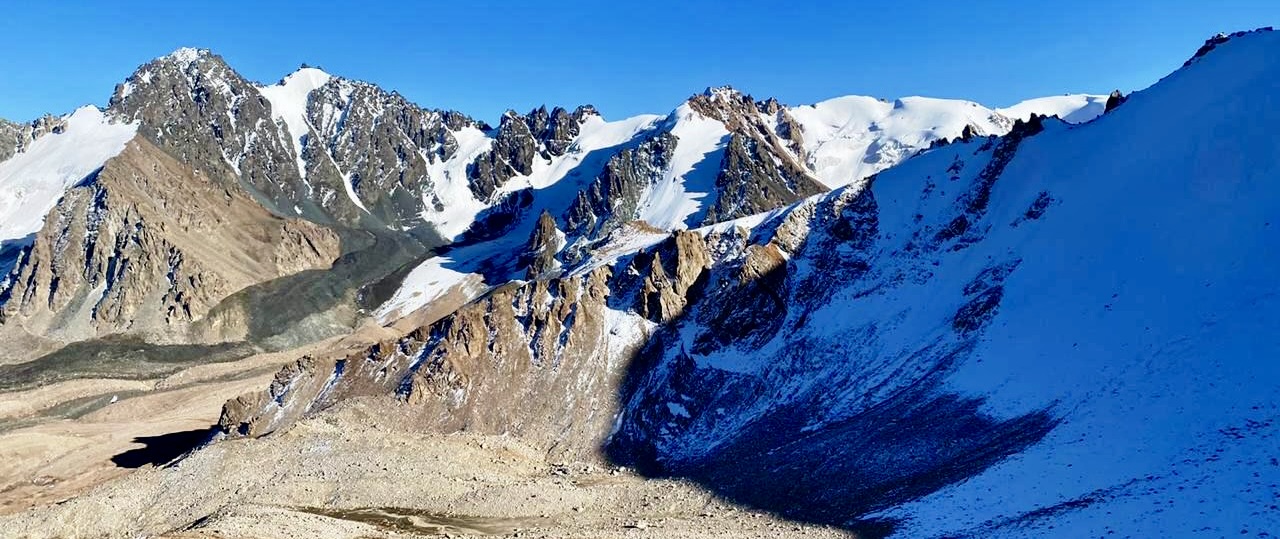
[[[1044,106],[1087,115],[1073,104],[1053,100]],[[476,265],[454,271],[457,279],[484,274],[481,280],[492,286],[522,275],[520,253],[511,250],[526,242],[543,214],[563,236],[562,248],[550,256],[577,262],[630,223],[669,230],[753,215],[861,182],[940,141],[1000,134],[1011,124],[998,111],[966,101],[844,97],[787,108],[709,88],[666,115],[611,122],[590,106],[540,108],[508,111],[490,127],[316,68],[301,68],[274,84],[255,83],[211,51],[182,49],[140,67],[115,88],[106,110],[0,124],[0,270],[8,275],[0,279],[0,305],[5,325],[60,342],[122,332],[241,339],[248,315],[228,310],[253,309],[227,305],[218,311],[225,319],[206,320],[220,303],[244,287],[332,261],[314,260],[329,256],[330,241],[315,236],[319,232],[302,234],[320,242],[302,251],[280,243],[292,242],[292,236],[271,233],[274,239],[251,242],[253,250],[302,252],[305,261],[280,260],[276,269],[246,273],[251,265],[239,260],[207,259],[198,274],[186,275],[219,283],[201,287],[204,298],[160,301],[192,297],[180,293],[180,271],[160,269],[177,268],[177,260],[191,269],[196,252],[155,253],[165,260],[125,256],[124,246],[141,236],[122,228],[124,236],[111,238],[106,248],[99,241],[104,209],[74,206],[82,197],[115,201],[122,227],[152,230],[156,245],[184,243],[175,228],[128,214],[156,201],[134,200],[145,189],[97,181],[102,173],[122,178],[124,170],[133,174],[133,168],[146,166],[123,157],[131,143],[142,146],[136,159],[159,159],[154,147],[188,169],[177,175],[196,182],[184,188],[204,193],[193,202],[201,207],[196,215],[215,211],[214,196],[244,198],[276,218],[332,229],[342,237],[339,252],[385,259],[376,270],[338,271],[344,282],[333,293],[343,296],[340,305],[351,305],[355,292],[348,291],[389,278],[417,252],[451,241],[470,245],[470,251],[449,260]],[[206,232],[211,245],[243,245],[233,232]],[[374,248],[376,253],[369,251]],[[266,256],[253,250],[246,256]],[[54,271],[33,252],[102,266]],[[492,252],[504,255],[486,255]],[[348,259],[360,265],[356,260]],[[156,270],[138,271],[141,266]],[[378,310],[381,320],[410,314],[438,294],[422,289],[421,277],[440,273],[440,260],[422,262]],[[59,277],[67,271],[87,277]],[[118,287],[124,283],[137,288],[123,293]],[[150,294],[145,291],[156,292],[143,298]],[[113,294],[123,307],[102,309]],[[59,300],[37,301],[44,297]],[[346,321],[333,328],[349,328],[352,316],[344,314]]]

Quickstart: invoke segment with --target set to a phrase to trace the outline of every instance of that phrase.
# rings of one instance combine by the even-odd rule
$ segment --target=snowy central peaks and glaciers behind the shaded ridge
[[[1062,101],[1044,104],[1061,113],[1070,109]],[[1075,119],[1092,119],[1089,114],[1101,110]],[[508,114],[504,123],[517,118]],[[850,96],[788,109],[732,88],[708,88],[663,118],[584,123],[563,157],[547,160],[545,168],[534,164],[529,174],[503,183],[495,206],[456,204],[479,211],[453,214],[458,220],[451,223],[470,223],[470,232],[484,230],[483,238],[506,247],[451,253],[454,270],[428,260],[380,312],[388,320],[426,306],[447,292],[438,284],[474,280],[479,266],[486,268],[490,284],[521,275],[524,269],[512,265],[513,250],[543,213],[564,236],[559,257],[580,261],[628,223],[675,230],[759,214],[859,183],[938,142],[1007,133],[1014,123],[970,101]],[[460,174],[456,168],[453,177]],[[495,262],[494,253],[503,252],[506,259]],[[504,265],[508,273],[493,271]]]

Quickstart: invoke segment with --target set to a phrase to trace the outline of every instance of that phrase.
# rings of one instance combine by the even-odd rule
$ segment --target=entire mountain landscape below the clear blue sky
[[[490,124],[180,49],[0,122],[0,536],[1271,536],[1277,88]]]

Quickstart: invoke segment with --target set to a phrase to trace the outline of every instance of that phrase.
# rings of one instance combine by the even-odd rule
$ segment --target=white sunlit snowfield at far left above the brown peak
[[[124,150],[136,124],[114,123],[96,106],[63,118],[61,133],[49,133],[0,163],[0,242],[40,230],[63,192]]]

